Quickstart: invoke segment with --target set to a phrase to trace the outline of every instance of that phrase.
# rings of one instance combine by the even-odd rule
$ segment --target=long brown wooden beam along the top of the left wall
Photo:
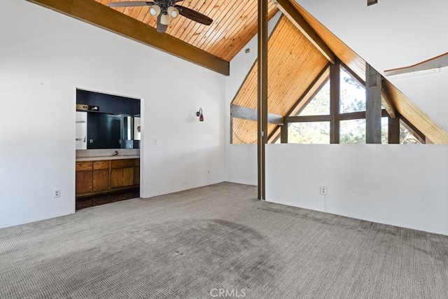
[[[193,62],[225,76],[230,74],[229,62],[211,55],[204,50],[176,39],[168,34],[160,34],[151,26],[123,13],[115,11],[93,0],[27,0],[69,15],[97,27],[120,34],[134,41]]]

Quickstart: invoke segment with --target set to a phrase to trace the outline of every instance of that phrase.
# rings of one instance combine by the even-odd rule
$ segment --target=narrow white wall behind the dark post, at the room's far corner
[[[268,34],[271,34],[281,13],[274,15],[269,20]],[[253,63],[257,59],[258,35],[255,35],[251,41],[230,61],[230,76],[225,78],[225,141],[226,141],[226,167],[227,181],[235,183],[246,183],[248,185],[257,185],[257,147],[256,144],[230,144],[230,103],[244,79],[248,71],[251,70]],[[250,53],[245,53],[246,49],[250,49]]]

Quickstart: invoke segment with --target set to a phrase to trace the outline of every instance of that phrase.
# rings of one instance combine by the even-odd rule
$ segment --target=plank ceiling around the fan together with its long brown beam
[[[184,0],[178,4],[213,19],[206,26],[183,16],[172,19],[167,32],[155,29],[149,6],[111,8],[109,1],[27,0],[126,36],[218,73],[230,74],[230,60],[257,33],[257,0]],[[278,9],[269,1],[268,20]]]

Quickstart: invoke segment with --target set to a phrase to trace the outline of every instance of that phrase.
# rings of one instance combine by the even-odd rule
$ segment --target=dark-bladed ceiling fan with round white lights
[[[207,15],[193,11],[193,9],[185,6],[176,5],[176,2],[180,1],[183,0],[110,2],[108,5],[111,7],[151,6],[149,13],[153,17],[157,17],[157,32],[166,32],[170,22],[169,18],[174,19],[179,15],[204,25],[210,25],[213,22]]]

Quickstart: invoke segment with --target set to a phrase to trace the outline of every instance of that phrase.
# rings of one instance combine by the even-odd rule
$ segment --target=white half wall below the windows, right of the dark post
[[[448,146],[269,144],[266,198],[448,235]]]

